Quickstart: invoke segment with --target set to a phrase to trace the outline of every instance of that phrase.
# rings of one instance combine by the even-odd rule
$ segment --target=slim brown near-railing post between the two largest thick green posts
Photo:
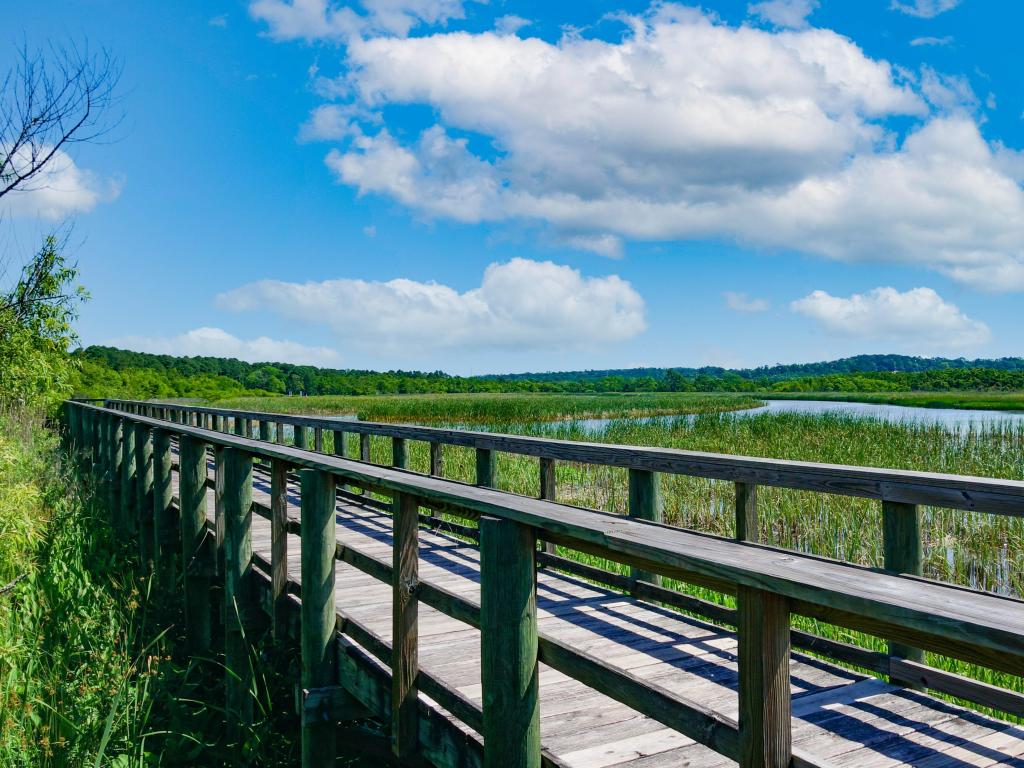
[[[399,439],[399,438],[395,438]],[[419,674],[419,529],[420,508],[416,497],[397,494],[394,504],[391,600],[391,752],[407,758],[417,752]]]

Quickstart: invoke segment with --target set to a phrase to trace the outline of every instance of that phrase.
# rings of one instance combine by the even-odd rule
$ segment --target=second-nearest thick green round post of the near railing
[[[337,534],[334,476],[299,472],[302,486],[302,687],[336,682],[334,574]],[[337,760],[336,724],[303,715],[302,768],[326,768]]]

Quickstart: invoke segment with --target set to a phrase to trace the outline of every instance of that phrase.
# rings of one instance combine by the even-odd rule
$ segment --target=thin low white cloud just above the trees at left
[[[330,347],[313,347],[295,341],[240,339],[219,328],[197,328],[178,336],[124,336],[105,342],[137,352],[176,355],[236,357],[247,362],[292,362],[303,366],[337,366],[338,353]]]

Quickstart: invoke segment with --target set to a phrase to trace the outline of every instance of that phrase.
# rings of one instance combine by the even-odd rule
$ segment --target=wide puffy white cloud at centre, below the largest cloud
[[[217,302],[328,326],[339,338],[388,351],[597,346],[645,328],[643,298],[617,275],[590,278],[521,258],[490,264],[480,286],[463,293],[404,279],[259,281]]]

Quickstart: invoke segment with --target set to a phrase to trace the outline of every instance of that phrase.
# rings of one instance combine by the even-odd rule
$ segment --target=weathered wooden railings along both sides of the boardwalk
[[[921,579],[918,507],[929,504],[1021,515],[1022,482],[177,404],[120,400],[106,404],[109,408],[68,403],[72,447],[106,495],[119,524],[138,534],[143,564],[165,584],[171,583],[176,569],[184,570],[189,638],[197,647],[208,644],[210,638],[210,573],[223,579],[224,599],[238,608],[225,614],[233,616],[225,627],[226,664],[236,670],[228,676],[227,710],[238,722],[251,717],[244,696],[249,684],[244,638],[246,623],[258,603],[254,584],[265,592],[263,607],[272,617],[275,634],[294,634],[293,614],[296,604],[300,605],[304,765],[333,763],[333,721],[354,706],[353,699],[390,721],[396,755],[419,753],[445,764],[443,756],[454,749],[452,739],[459,736],[436,722],[419,700],[418,690],[482,734],[487,765],[557,764],[543,755],[540,746],[537,676],[532,674],[539,662],[744,766],[817,764],[812,756],[794,755],[791,745],[791,645],[889,674],[908,684],[1024,714],[1024,698],[1013,691],[923,664],[923,651],[930,650],[1013,675],[1024,674],[1024,611],[1017,600]],[[283,425],[296,428],[294,446],[282,444]],[[229,426],[234,434],[225,433]],[[259,438],[253,437],[254,426]],[[313,430],[312,445],[309,429]],[[335,446],[344,445],[338,433],[359,434],[360,461],[318,453],[326,430],[336,433]],[[375,434],[392,439],[395,466],[368,462],[369,436]],[[170,494],[172,437],[177,439],[180,456],[177,505]],[[408,440],[430,443],[431,474],[404,468]],[[440,446],[444,444],[476,450],[477,485],[434,476],[441,474]],[[208,531],[205,510],[208,450],[212,450],[216,466],[218,502],[212,531]],[[538,457],[544,498],[488,487],[495,484],[495,452]],[[269,508],[252,502],[254,459],[259,462],[256,471],[269,474]],[[556,461],[629,469],[632,517],[553,503],[550,478]],[[287,519],[284,502],[288,472],[296,469],[301,478],[299,524]],[[662,524],[656,472],[736,482],[740,541]],[[759,484],[880,500],[886,565],[890,571],[900,572],[750,541],[757,530]],[[347,549],[335,540],[335,496],[347,493],[339,489],[342,485],[392,500],[391,563]],[[370,501],[369,497],[365,500]],[[479,604],[419,583],[418,530],[420,523],[431,522],[420,515],[421,508],[477,522],[477,527],[467,525],[463,530],[479,541]],[[252,554],[253,511],[270,520],[269,562]],[[301,588],[288,582],[286,575],[288,532],[298,532],[302,541]],[[538,552],[538,540],[632,566],[632,575],[612,574],[550,552]],[[390,644],[346,616],[343,606],[336,615],[337,559],[391,584]],[[630,589],[638,597],[734,625],[739,641],[738,723],[555,638],[539,635],[535,564],[596,578]],[[261,573],[265,578],[254,578]],[[733,611],[665,589],[657,584],[659,577],[735,595],[737,608]],[[419,670],[419,602],[480,629],[482,708]],[[512,613],[517,621],[509,621]],[[890,653],[871,653],[795,632],[790,626],[791,614],[885,638],[890,642]],[[340,648],[337,656],[336,644]],[[375,677],[378,668],[360,662],[367,653],[390,667],[390,680]],[[342,687],[338,687],[339,679]],[[524,680],[529,681],[525,686]]]

